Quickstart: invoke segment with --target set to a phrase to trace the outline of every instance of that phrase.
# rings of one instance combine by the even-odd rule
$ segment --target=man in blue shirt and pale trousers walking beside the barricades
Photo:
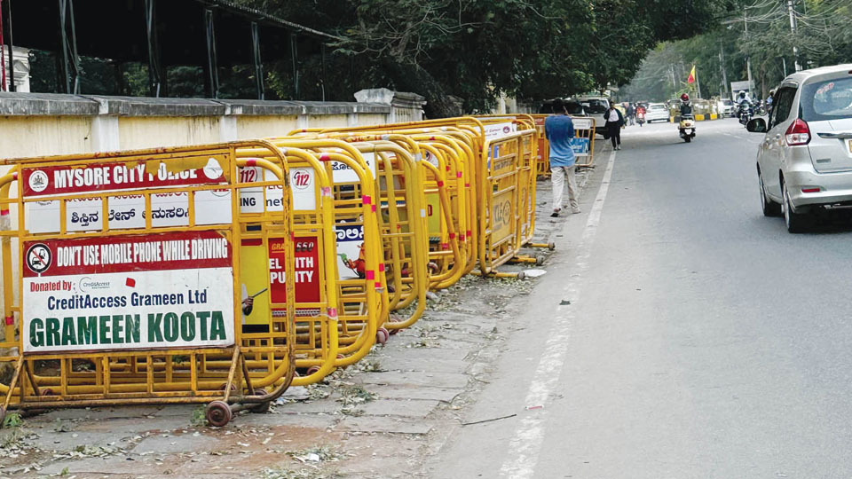
[[[560,98],[556,98],[553,102],[553,113],[544,121],[544,136],[548,138],[550,145],[550,182],[553,186],[553,214],[550,216],[556,218],[562,211],[565,177],[568,177],[568,201],[571,204],[571,212],[580,213],[580,206],[577,204],[574,151],[571,147],[574,123]]]

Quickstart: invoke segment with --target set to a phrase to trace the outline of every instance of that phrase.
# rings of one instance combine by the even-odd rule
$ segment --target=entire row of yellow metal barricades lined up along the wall
[[[265,411],[414,324],[428,291],[523,274],[498,268],[548,246],[538,139],[528,115],[461,117],[0,161],[0,416]]]

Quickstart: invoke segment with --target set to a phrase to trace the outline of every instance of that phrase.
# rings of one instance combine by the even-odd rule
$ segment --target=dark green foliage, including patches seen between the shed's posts
[[[351,101],[386,87],[424,95],[437,117],[485,111],[501,93],[534,101],[623,85],[659,42],[713,28],[742,0],[234,1],[338,38],[299,35],[295,66],[264,59],[266,98]],[[55,54],[33,59],[43,72],[33,90],[61,90]],[[221,98],[256,97],[248,63],[219,68]],[[161,96],[204,96],[200,67],[165,71]],[[145,63],[84,59],[82,72],[84,94],[151,94]]]

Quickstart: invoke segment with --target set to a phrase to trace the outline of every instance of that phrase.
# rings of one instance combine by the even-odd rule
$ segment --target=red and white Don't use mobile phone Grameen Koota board
[[[217,232],[24,243],[24,352],[227,347],[233,259]]]

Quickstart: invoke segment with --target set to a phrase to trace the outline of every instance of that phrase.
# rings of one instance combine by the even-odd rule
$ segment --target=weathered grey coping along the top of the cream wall
[[[294,116],[388,114],[382,103],[109,97],[0,91],[3,116]]]

